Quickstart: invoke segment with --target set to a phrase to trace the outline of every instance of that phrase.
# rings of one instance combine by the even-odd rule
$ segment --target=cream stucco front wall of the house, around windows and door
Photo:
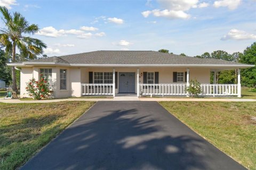
[[[55,98],[67,98],[71,96],[81,96],[81,83],[89,83],[89,72],[113,72],[113,68],[92,68],[92,67],[59,67],[59,66],[35,66],[22,67],[21,69],[21,97],[29,97],[26,92],[26,82],[31,78],[38,80],[39,69],[52,69],[53,96]],[[60,69],[67,69],[67,89],[60,90]],[[135,92],[137,92],[137,68],[116,68],[116,72],[134,72],[135,73]],[[141,68],[139,70],[139,83],[143,83],[143,72],[159,72],[159,83],[186,83],[173,82],[173,72],[186,72],[186,68]],[[185,75],[186,76],[186,75]],[[191,68],[189,80],[197,79],[200,83],[210,83],[210,69]],[[119,85],[119,78],[117,79]],[[115,89],[118,93],[118,89]]]

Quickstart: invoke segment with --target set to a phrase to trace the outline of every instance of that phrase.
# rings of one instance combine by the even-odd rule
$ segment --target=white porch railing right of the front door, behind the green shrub
[[[142,95],[186,96],[187,84],[139,84]],[[238,84],[201,84],[201,96],[237,96]]]

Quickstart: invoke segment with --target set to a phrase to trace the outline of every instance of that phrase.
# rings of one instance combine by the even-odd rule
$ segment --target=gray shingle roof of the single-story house
[[[220,64],[244,65],[212,58],[195,58],[155,51],[95,51],[59,57],[41,58],[33,62],[57,62],[69,64]]]

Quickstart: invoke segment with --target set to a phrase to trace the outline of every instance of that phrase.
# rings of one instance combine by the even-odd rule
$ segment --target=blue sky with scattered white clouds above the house
[[[31,37],[43,40],[47,56],[159,49],[231,54],[256,41],[256,0],[0,0],[0,6],[38,24]]]

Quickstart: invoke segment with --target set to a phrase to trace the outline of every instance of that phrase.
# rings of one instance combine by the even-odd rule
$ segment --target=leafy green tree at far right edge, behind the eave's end
[[[240,63],[256,65],[256,42],[244,50],[244,54],[239,58]],[[249,69],[242,69],[242,84],[247,87],[256,86],[256,66]]]

